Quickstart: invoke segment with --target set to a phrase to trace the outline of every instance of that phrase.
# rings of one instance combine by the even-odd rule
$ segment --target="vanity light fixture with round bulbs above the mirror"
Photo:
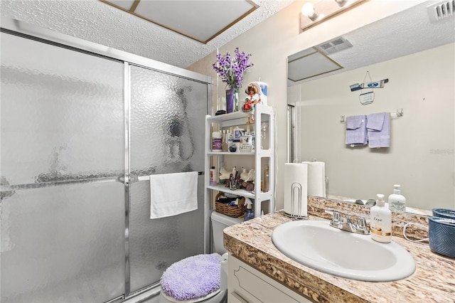
[[[323,21],[333,18],[343,11],[353,9],[355,6],[368,0],[321,0],[306,2],[301,8],[300,32],[306,31]]]

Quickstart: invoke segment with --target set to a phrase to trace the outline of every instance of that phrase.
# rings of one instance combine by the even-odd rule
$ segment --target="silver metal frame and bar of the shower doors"
[[[28,38],[35,41],[40,41],[43,43],[48,43],[50,45],[59,46],[62,48],[68,48],[71,50],[76,50],[82,53],[88,53],[90,55],[97,55],[109,60],[117,60],[124,63],[124,178],[102,178],[102,179],[90,179],[90,180],[80,180],[80,181],[62,181],[62,182],[52,182],[52,184],[25,184],[18,186],[9,186],[6,189],[23,189],[23,188],[37,188],[42,186],[55,186],[59,184],[75,184],[75,183],[90,183],[96,181],[102,182],[113,182],[119,181],[124,184],[124,199],[125,199],[125,228],[124,228],[124,249],[125,249],[125,277],[124,277],[124,297],[114,298],[109,302],[117,302],[122,299],[128,299],[129,297],[134,297],[139,292],[142,292],[142,289],[132,293],[130,289],[130,268],[129,268],[129,208],[130,208],[130,191],[129,186],[134,182],[138,181],[134,176],[130,175],[130,163],[129,163],[129,146],[130,146],[130,108],[131,108],[131,97],[129,90],[129,80],[130,80],[130,66],[137,65],[144,68],[149,68],[151,70],[159,71],[160,73],[166,73],[170,75],[176,75],[179,78],[185,78],[188,80],[193,80],[199,83],[207,85],[207,112],[210,114],[211,107],[211,95],[212,95],[212,78],[207,75],[202,75],[195,73],[191,70],[186,70],[183,68],[178,68],[173,65],[168,65],[166,63],[161,63],[156,60],[149,58],[141,57],[140,55],[134,55],[132,53],[127,53],[122,50],[117,50],[107,46],[102,46],[97,43],[92,43],[90,41],[85,41],[81,38],[76,38],[73,36],[68,36],[63,33],[58,33],[56,31],[50,31],[46,28],[40,28],[28,24],[23,21],[19,21],[12,18],[1,18],[1,32],[10,33],[16,36],[21,36],[23,38]],[[2,191],[6,190],[2,186]],[[204,252],[207,253],[210,250],[210,206],[204,204]],[[147,287],[146,287],[147,288]]]

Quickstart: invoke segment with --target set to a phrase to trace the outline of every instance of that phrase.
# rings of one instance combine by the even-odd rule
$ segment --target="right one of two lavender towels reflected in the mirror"
[[[390,147],[390,112],[367,116],[368,147]]]

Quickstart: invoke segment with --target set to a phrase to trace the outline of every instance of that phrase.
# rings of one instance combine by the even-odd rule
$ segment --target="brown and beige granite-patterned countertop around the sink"
[[[315,302],[455,302],[455,259],[437,255],[428,244],[392,236],[414,257],[416,270],[410,277],[394,282],[349,280],[313,270],[279,252],[272,243],[272,231],[289,220],[276,212],[230,226],[224,230],[225,248]]]

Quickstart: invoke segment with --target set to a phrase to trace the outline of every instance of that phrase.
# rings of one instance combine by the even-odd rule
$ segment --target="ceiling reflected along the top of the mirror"
[[[455,13],[438,21],[433,18],[434,6],[439,2],[424,2],[315,47],[319,53],[326,56],[324,65],[328,65],[328,60],[330,60],[336,62],[341,68],[331,70],[328,65],[329,68],[321,72],[325,66],[315,67],[309,58],[306,58],[306,63],[297,64],[292,60],[295,55],[289,56],[288,85],[309,82],[455,42]],[[444,2],[454,5],[454,1]],[[327,48],[329,51],[324,51],[327,43],[334,44],[333,41],[337,41],[339,38],[348,41],[353,47],[334,53],[329,53],[333,48]],[[314,52],[314,48],[302,52],[309,51]]]

